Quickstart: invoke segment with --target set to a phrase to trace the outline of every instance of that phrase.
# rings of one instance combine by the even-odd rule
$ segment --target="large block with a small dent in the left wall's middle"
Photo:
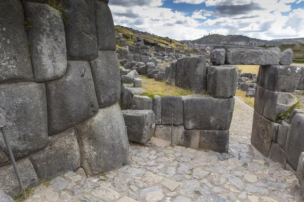
[[[90,64],[68,61],[66,74],[46,83],[49,135],[85,121],[98,111]]]

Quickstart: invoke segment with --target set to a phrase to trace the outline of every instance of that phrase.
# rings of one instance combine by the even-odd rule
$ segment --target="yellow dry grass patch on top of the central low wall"
[[[185,90],[177,86],[167,85],[166,81],[155,81],[153,78],[141,78],[142,89],[147,92],[143,95],[153,97],[154,95],[166,96],[166,95],[192,95],[192,94],[206,94],[206,92],[195,93],[192,90]],[[147,83],[146,83],[147,82]],[[146,84],[145,84],[146,83]]]

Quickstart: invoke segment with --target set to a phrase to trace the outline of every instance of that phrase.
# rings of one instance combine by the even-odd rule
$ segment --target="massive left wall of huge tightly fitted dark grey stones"
[[[96,175],[128,162],[108,1],[63,1],[64,16],[40,2],[0,2],[0,125],[25,188],[80,167]],[[2,135],[0,189],[19,191]]]

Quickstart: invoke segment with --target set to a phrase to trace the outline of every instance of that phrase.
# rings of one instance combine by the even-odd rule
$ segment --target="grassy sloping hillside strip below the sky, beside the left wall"
[[[149,38],[150,41],[160,41],[163,43],[168,43],[170,47],[173,47],[175,49],[179,49],[179,51],[184,52],[185,49],[188,49],[187,45],[181,44],[180,42],[170,39],[169,37],[162,37],[162,36],[157,36],[155,34],[150,34],[147,32],[142,32],[142,31],[138,31],[129,27],[124,27],[124,26],[115,26],[115,32],[116,34],[118,33],[122,33],[123,37],[126,41],[126,43],[129,44],[133,44],[133,39],[131,39],[131,35],[136,35],[138,37],[146,37]],[[162,44],[161,44],[162,45]]]

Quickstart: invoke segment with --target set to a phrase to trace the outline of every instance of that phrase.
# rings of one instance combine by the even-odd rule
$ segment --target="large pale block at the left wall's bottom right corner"
[[[82,167],[87,175],[125,166],[129,142],[125,121],[118,104],[99,109],[89,120],[75,126]]]

